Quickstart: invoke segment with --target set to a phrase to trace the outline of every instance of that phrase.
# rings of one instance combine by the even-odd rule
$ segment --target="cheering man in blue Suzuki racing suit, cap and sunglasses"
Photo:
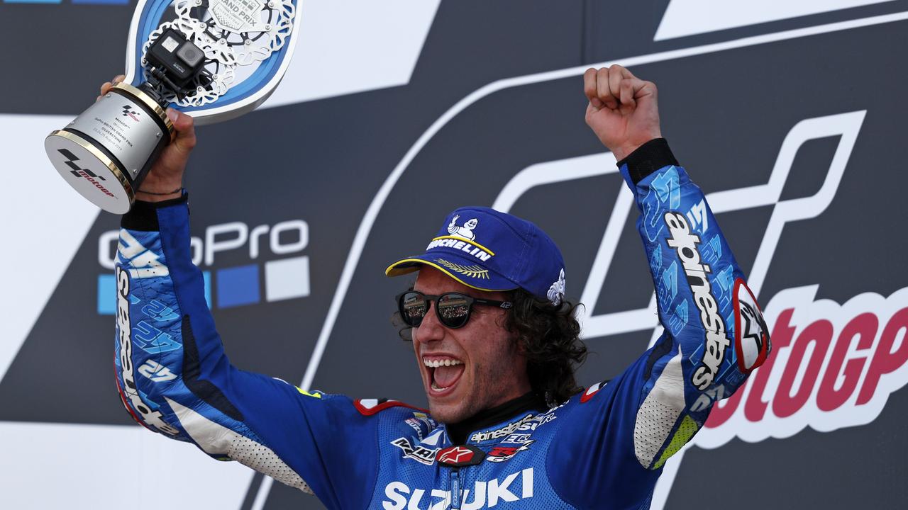
[[[419,271],[397,306],[430,412],[232,367],[191,261],[182,177],[192,120],[171,112],[179,134],[123,216],[117,255],[127,410],[329,508],[648,507],[666,459],[765,360],[769,338],[703,194],[661,138],[656,85],[613,65],[587,70],[584,86],[587,123],[642,212],[666,329],[617,378],[577,394],[585,348],[561,254],[532,223],[488,208],[453,211],[425,253],[386,271]],[[694,215],[706,221],[695,227]],[[149,327],[178,343],[142,342]]]

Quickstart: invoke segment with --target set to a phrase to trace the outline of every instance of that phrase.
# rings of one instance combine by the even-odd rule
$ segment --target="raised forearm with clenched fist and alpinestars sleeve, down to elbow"
[[[702,401],[698,392],[719,387],[718,398],[727,397],[765,360],[769,338],[706,197],[662,138],[656,84],[613,65],[587,70],[584,91],[587,124],[615,154],[634,193],[666,329],[662,343],[679,349],[687,397]]]

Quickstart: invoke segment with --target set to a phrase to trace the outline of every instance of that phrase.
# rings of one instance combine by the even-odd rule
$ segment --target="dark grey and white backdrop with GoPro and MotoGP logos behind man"
[[[193,258],[233,364],[425,405],[389,320],[412,280],[383,270],[479,205],[558,243],[594,353],[580,384],[615,377],[661,329],[637,211],[583,118],[584,70],[624,64],[658,85],[662,132],[774,347],[666,464],[652,507],[902,506],[908,1],[607,4],[302,2],[277,92],[200,127],[187,171]],[[0,506],[322,508],[148,433],[117,396],[119,218],[60,180],[42,143],[123,72],[134,7],[0,0],[0,65],[22,78],[0,80],[16,184],[0,205]]]

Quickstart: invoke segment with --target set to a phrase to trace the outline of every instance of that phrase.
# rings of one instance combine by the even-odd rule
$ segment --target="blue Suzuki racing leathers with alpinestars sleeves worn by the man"
[[[304,391],[232,366],[192,265],[186,198],[139,202],[116,259],[116,381],[144,427],[318,496],[328,508],[647,508],[661,466],[769,351],[703,193],[664,140],[620,168],[665,332],[623,373],[452,445],[427,411]]]

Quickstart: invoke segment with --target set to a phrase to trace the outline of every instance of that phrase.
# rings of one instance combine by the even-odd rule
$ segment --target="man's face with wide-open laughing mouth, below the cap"
[[[502,292],[470,289],[429,266],[419,270],[413,289],[436,296],[459,292],[507,300]],[[413,350],[429,410],[439,421],[459,422],[530,390],[527,359],[504,328],[506,313],[504,309],[474,305],[466,326],[449,329],[439,322],[432,301],[419,328],[413,329]]]

